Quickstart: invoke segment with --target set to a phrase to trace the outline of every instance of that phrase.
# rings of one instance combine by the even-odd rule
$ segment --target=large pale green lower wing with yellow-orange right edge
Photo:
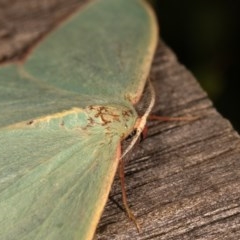
[[[104,131],[1,130],[0,239],[92,239],[119,142]]]

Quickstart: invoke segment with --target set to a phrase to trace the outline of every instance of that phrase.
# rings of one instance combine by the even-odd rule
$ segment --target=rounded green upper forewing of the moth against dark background
[[[48,35],[24,68],[42,82],[67,91],[110,102],[122,102],[127,95],[136,102],[157,39],[156,19],[144,1],[94,1]]]

